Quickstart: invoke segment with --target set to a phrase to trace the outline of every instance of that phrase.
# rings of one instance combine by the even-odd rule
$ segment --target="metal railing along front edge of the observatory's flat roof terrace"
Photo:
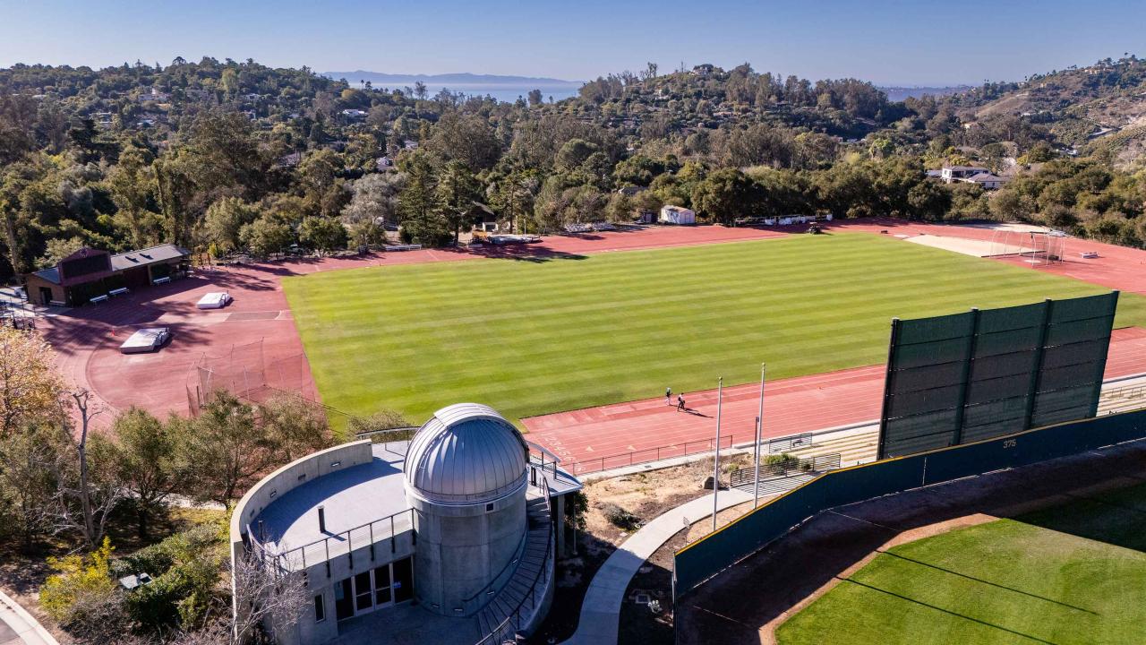
[[[292,573],[306,570],[307,567],[324,562],[329,577],[331,558],[348,555],[350,566],[353,569],[355,549],[369,546],[370,561],[374,561],[378,544],[388,541],[390,552],[394,553],[398,549],[398,536],[407,530],[413,531],[413,529],[414,508],[407,508],[282,552],[260,542],[260,536],[250,524],[246,527],[246,533],[251,546],[258,551],[259,558],[265,565],[270,562],[281,573]],[[415,539],[417,539],[416,536]]]

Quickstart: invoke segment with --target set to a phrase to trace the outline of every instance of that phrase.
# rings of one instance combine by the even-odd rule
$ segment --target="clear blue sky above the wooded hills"
[[[0,0],[0,65],[254,59],[316,71],[583,80],[683,61],[978,84],[1146,56],[1146,0]]]

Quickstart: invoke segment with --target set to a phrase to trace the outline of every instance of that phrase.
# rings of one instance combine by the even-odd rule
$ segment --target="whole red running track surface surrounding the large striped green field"
[[[265,365],[265,384],[299,391],[317,398],[301,341],[280,287],[285,275],[361,266],[447,262],[521,256],[575,256],[581,254],[681,247],[784,236],[803,226],[775,230],[725,228],[721,226],[662,227],[633,231],[547,236],[540,243],[487,247],[484,249],[426,249],[370,254],[354,258],[300,259],[243,267],[201,271],[196,278],[162,287],[141,289],[109,304],[83,306],[56,318],[42,319],[40,327],[56,349],[61,368],[76,386],[86,387],[110,412],[132,405],[151,412],[186,413],[188,384],[194,391],[191,367],[205,357],[217,359],[234,352],[234,366]],[[992,231],[982,227],[916,224],[898,220],[840,220],[829,223],[832,231],[859,231],[889,234],[950,235],[989,240]],[[1081,280],[1144,293],[1146,251],[1086,242],[1068,241],[1068,255],[1097,250],[1097,259],[1068,259],[1038,269]],[[1007,259],[1007,262],[1013,262]],[[223,310],[199,311],[198,298],[213,290],[227,290],[235,302]],[[236,314],[236,316],[233,316]],[[118,345],[140,327],[167,326],[173,340],[151,355],[123,356]],[[1124,334],[1124,333],[1123,333]],[[1146,333],[1144,333],[1146,335]],[[1118,337],[1118,336],[1116,336]],[[1146,352],[1146,340],[1139,340]],[[1118,347],[1117,351],[1114,347]],[[1112,345],[1108,375],[1146,371],[1146,359]],[[237,349],[236,349],[237,348]],[[261,359],[257,358],[261,349]],[[1138,351],[1138,350],[1136,350]],[[845,425],[879,415],[880,367],[862,367],[830,374],[770,383],[766,401],[770,436]],[[872,378],[872,375],[876,378]],[[738,402],[738,403],[732,403]],[[725,388],[724,427],[732,441],[749,441],[755,417],[755,386]],[[730,405],[732,406],[730,409]],[[689,396],[693,413],[672,412],[662,399],[607,405],[537,417],[526,421],[533,438],[557,452],[566,461],[599,459],[633,450],[708,441],[715,413],[715,394]],[[113,414],[100,419],[107,422]],[[568,423],[565,426],[565,423]],[[669,453],[662,453],[669,457]],[[639,456],[638,456],[639,457]],[[625,459],[628,459],[626,454]],[[642,459],[647,459],[643,457]]]

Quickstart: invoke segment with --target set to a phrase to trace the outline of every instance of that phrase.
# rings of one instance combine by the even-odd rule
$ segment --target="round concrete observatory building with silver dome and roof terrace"
[[[281,645],[531,635],[552,600],[565,496],[581,483],[485,405],[392,436],[288,464],[235,506],[233,559],[305,573],[300,620],[264,627]]]

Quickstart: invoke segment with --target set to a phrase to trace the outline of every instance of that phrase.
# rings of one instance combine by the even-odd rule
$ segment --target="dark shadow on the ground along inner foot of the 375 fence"
[[[1112,504],[1128,514],[1146,513],[1135,502],[1141,497],[1127,492],[1146,485],[1144,460],[1146,442],[1136,442],[821,513],[682,597],[675,642],[759,644],[761,629],[898,534],[976,513],[1146,550],[1140,520],[1121,530],[1109,523]],[[1080,512],[1055,512],[1063,504],[1076,504]]]

